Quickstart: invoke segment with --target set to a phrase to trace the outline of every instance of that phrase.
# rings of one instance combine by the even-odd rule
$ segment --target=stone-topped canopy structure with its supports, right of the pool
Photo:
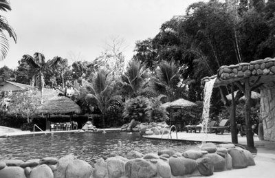
[[[251,91],[259,88],[261,90],[260,111],[263,120],[264,139],[275,141],[275,58],[259,59],[237,65],[223,65],[219,68],[217,76],[205,77],[202,82],[207,82],[212,78],[216,78],[214,87],[225,85],[234,87],[236,85],[247,98],[245,100],[245,126],[248,147],[251,148],[254,147],[250,120]],[[222,92],[221,94],[223,95]],[[222,98],[224,97],[222,96]],[[231,120],[234,122],[233,119]]]

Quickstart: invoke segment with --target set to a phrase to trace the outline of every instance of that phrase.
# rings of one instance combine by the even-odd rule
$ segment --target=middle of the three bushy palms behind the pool
[[[122,75],[122,90],[129,98],[137,96],[154,96],[154,92],[150,88],[150,80],[148,79],[148,71],[142,67],[142,63],[137,60],[131,60],[126,69],[126,73]]]

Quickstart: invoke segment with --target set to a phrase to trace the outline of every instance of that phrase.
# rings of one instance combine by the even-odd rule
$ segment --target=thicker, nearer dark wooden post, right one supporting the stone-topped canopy
[[[251,90],[250,90],[250,80],[249,78],[245,79],[245,126],[246,126],[246,140],[248,142],[248,148],[254,147],[254,138],[251,128],[250,120],[250,100],[251,100]]]

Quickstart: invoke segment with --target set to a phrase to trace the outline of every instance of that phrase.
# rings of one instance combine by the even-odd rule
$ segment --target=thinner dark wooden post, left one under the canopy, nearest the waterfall
[[[238,143],[238,130],[236,128],[236,102],[234,97],[234,82],[231,84],[231,107],[230,107],[230,127],[232,143]]]

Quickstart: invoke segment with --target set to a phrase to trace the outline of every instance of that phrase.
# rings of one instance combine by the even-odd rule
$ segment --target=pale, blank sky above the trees
[[[10,0],[12,11],[0,12],[17,34],[0,61],[15,68],[24,54],[41,52],[46,60],[61,56],[93,61],[112,38],[124,40],[126,60],[136,41],[153,38],[162,23],[183,15],[199,0]],[[8,36],[8,35],[7,35]],[[73,60],[69,60],[73,62]]]

